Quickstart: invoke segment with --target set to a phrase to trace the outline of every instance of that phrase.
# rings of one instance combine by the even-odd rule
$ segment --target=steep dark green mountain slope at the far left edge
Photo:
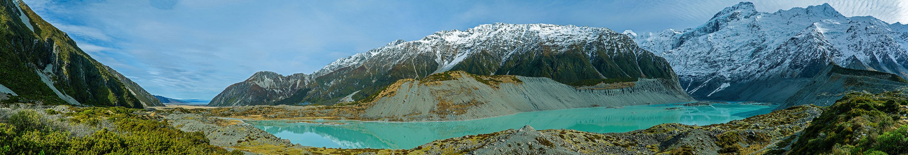
[[[20,0],[0,1],[0,98],[15,102],[142,108],[162,105],[80,50]]]

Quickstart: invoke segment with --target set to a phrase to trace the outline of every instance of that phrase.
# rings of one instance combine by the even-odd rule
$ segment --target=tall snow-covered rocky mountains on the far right
[[[743,2],[696,28],[624,33],[666,58],[691,96],[783,103],[831,62],[908,77],[906,27],[828,4],[763,13]]]

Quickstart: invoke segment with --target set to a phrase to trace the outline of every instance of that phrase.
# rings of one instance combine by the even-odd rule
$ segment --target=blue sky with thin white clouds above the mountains
[[[148,92],[211,99],[261,70],[310,74],[394,40],[485,23],[616,32],[683,30],[734,0],[24,0],[94,59]],[[753,0],[758,11],[828,3],[845,16],[908,23],[906,0]]]

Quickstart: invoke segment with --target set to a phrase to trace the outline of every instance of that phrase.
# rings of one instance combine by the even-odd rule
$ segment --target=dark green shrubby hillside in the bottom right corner
[[[814,119],[790,154],[908,154],[908,94],[854,93]]]

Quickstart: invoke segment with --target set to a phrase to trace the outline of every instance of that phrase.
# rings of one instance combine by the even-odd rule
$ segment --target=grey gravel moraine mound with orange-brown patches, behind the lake
[[[450,79],[432,81],[440,74]],[[469,120],[540,110],[592,106],[649,105],[694,101],[675,78],[641,78],[633,87],[577,89],[551,78],[479,76],[464,71],[401,79],[363,103],[368,120]]]

